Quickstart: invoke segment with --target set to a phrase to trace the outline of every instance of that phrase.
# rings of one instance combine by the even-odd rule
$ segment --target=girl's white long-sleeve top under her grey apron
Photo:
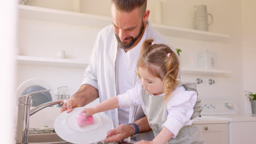
[[[154,95],[155,97],[164,96]],[[173,138],[175,138],[179,130],[181,130],[186,125],[193,124],[193,119],[190,119],[194,112],[194,105],[196,104],[197,93],[194,91],[186,91],[183,86],[177,87],[167,99],[166,103],[166,114],[167,120],[162,125],[166,127],[173,133]],[[145,105],[142,99],[142,86],[141,82],[137,82],[136,86],[128,90],[124,94],[118,95],[118,102],[120,107],[131,107],[131,106],[141,106],[144,113]]]

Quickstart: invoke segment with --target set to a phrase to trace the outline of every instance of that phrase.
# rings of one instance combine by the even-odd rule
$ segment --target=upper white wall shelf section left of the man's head
[[[84,25],[92,27],[104,27],[110,25],[111,23],[110,18],[106,16],[75,13],[72,11],[57,9],[40,8],[22,4],[19,4],[18,8],[19,18],[21,19],[54,21],[60,23],[71,23],[75,25]]]

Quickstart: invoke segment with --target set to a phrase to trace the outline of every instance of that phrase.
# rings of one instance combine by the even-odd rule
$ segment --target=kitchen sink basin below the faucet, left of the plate
[[[56,133],[45,134],[28,134],[29,143],[66,143],[69,142],[62,140]]]

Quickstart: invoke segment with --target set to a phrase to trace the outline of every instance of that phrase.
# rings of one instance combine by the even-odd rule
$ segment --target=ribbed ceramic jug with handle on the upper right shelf
[[[195,29],[200,31],[208,31],[208,26],[213,22],[213,16],[207,13],[206,5],[194,5],[195,10]],[[211,22],[208,22],[208,16],[211,17]]]

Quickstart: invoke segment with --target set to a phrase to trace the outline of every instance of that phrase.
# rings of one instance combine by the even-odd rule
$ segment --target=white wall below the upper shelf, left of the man
[[[66,58],[88,59],[100,28],[69,25],[49,21],[19,20],[18,46],[20,55],[56,57],[59,50],[66,51]],[[43,79],[54,88],[69,86],[74,94],[83,80],[84,68],[42,65],[18,65],[18,87],[28,79]]]

